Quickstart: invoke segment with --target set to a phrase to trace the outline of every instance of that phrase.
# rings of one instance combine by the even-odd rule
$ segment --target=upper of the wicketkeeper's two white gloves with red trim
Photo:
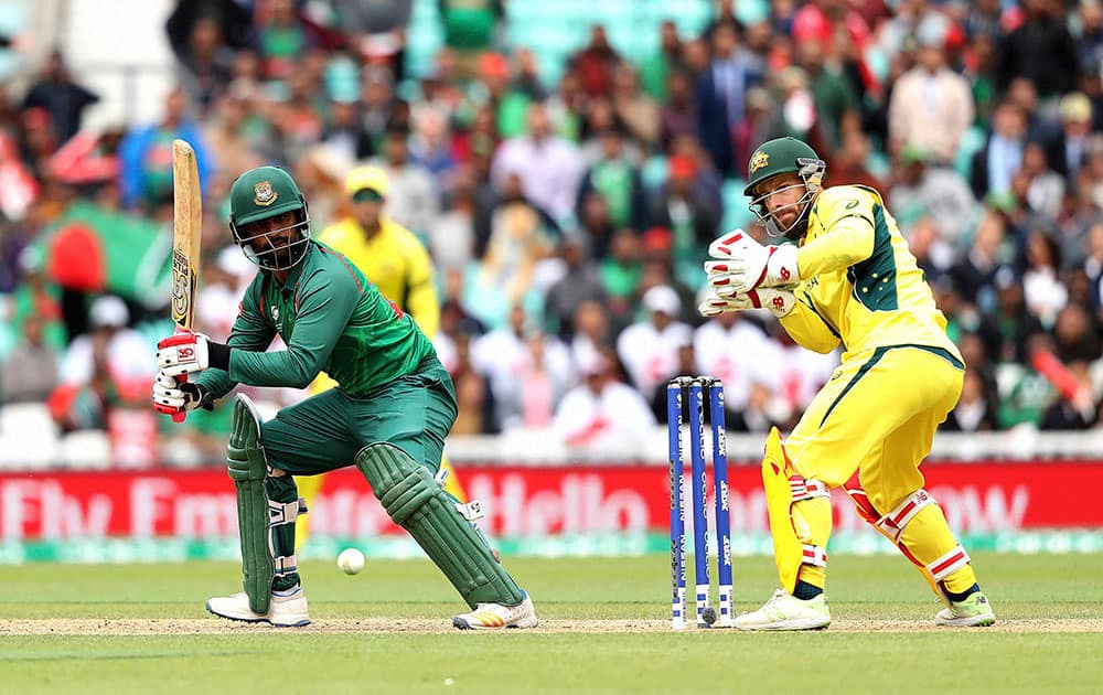
[[[796,268],[796,246],[762,246],[742,229],[713,242],[705,261],[709,287],[731,293],[759,287],[791,287],[801,281]]]

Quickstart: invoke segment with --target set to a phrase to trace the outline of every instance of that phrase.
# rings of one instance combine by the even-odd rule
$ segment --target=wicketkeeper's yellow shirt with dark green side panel
[[[962,360],[915,257],[880,194],[840,185],[815,199],[796,265],[796,306],[781,320],[801,345],[843,359],[874,348],[924,345]]]

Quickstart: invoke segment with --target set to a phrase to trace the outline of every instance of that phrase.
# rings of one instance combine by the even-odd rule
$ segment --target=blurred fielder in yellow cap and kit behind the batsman
[[[357,167],[345,179],[345,194],[352,205],[352,215],[328,228],[319,240],[351,260],[367,276],[379,292],[409,313],[430,340],[440,325],[440,303],[432,278],[432,261],[425,246],[414,234],[383,214],[387,201],[387,174],[376,167]],[[334,382],[325,374],[311,385],[312,393],[332,388]],[[467,495],[456,470],[445,456],[440,471],[447,475],[445,490],[460,502]],[[299,493],[309,505],[322,489],[324,475],[303,477]],[[307,538],[309,515],[299,520],[298,534],[301,546]]]

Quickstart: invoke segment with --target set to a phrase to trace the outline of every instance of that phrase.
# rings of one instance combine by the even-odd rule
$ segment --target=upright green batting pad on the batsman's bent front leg
[[[234,398],[234,424],[226,446],[226,469],[237,489],[237,525],[242,536],[242,586],[249,608],[268,612],[276,562],[268,547],[268,461],[260,448],[260,419],[253,402]]]

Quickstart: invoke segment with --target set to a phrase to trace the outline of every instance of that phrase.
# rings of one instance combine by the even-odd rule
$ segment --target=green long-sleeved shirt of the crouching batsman
[[[287,350],[264,352],[276,335]],[[280,285],[261,270],[242,301],[227,343],[229,372],[196,379],[216,398],[236,384],[304,388],[320,371],[353,398],[414,374],[435,355],[414,320],[330,247],[309,242],[306,257]]]

